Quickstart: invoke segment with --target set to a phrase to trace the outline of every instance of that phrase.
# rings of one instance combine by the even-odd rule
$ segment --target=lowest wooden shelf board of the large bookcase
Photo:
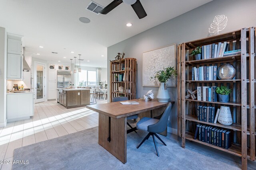
[[[206,145],[208,147],[212,147],[212,148],[215,148],[215,149],[218,149],[218,150],[222,150],[224,152],[228,152],[230,154],[234,154],[234,155],[239,156],[239,157],[242,156],[242,152],[241,152],[242,149],[241,149],[240,146],[237,146],[237,145],[231,145],[231,147],[229,149],[224,149],[222,147],[217,147],[217,146],[212,145],[210,143],[206,143],[206,142],[199,141],[198,139],[194,139],[194,134],[192,134],[192,133],[186,133],[186,139],[188,139],[189,141],[194,141],[196,143],[200,143],[202,145]]]

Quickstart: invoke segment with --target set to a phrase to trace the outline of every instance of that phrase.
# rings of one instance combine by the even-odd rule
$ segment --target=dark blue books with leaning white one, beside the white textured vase
[[[197,106],[197,119],[209,123],[216,123],[220,109],[217,109],[215,116],[215,107]]]

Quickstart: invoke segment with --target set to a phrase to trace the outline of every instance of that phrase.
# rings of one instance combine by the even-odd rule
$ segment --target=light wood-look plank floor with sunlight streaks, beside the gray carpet
[[[97,100],[106,103],[106,100]],[[66,109],[56,101],[34,105],[34,116],[28,120],[7,123],[0,128],[0,161],[13,161],[16,148],[46,141],[98,126],[98,113],[77,107]],[[1,170],[12,169],[12,164],[0,164]]]

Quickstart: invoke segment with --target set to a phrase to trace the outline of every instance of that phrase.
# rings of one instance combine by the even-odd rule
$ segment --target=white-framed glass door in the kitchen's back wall
[[[45,64],[36,63],[34,66],[35,103],[44,102],[45,98]]]

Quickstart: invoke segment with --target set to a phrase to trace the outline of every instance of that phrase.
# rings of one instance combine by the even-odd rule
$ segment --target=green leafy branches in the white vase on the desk
[[[177,70],[175,70],[174,67],[167,67],[164,68],[164,70],[159,70],[158,72],[156,72],[156,75],[154,77],[151,77],[151,79],[157,78],[160,83],[166,83],[171,76],[177,75]]]

